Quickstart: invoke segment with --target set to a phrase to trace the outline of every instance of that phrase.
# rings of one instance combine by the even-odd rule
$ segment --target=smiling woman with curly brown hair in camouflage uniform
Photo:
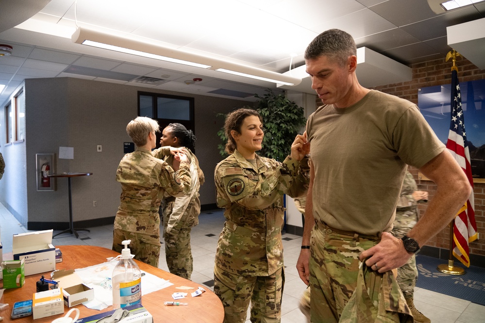
[[[297,135],[283,162],[260,157],[262,119],[238,109],[226,117],[226,152],[214,172],[217,206],[226,222],[219,235],[214,292],[224,306],[224,323],[244,323],[251,301],[251,322],[280,322],[284,285],[283,196],[298,197],[308,187],[309,147]]]

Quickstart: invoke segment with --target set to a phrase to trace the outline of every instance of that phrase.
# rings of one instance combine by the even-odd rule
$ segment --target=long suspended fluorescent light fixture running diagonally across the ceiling
[[[202,56],[195,53],[168,48],[150,39],[140,40],[143,37],[127,34],[120,36],[113,33],[99,32],[87,28],[78,28],[72,34],[72,41],[77,44],[109,49],[127,54],[148,57],[156,60],[189,65],[199,68],[212,69],[251,79],[274,82],[285,85],[296,85],[301,78],[287,76],[265,69],[241,65],[222,59]]]

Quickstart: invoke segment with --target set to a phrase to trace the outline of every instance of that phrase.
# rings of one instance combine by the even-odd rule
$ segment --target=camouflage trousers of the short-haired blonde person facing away
[[[124,231],[114,229],[113,231],[113,250],[121,253],[124,245],[123,240],[131,240],[130,252],[136,260],[143,261],[158,268],[158,259],[160,258],[160,238],[148,234]],[[157,244],[158,243],[158,244]]]

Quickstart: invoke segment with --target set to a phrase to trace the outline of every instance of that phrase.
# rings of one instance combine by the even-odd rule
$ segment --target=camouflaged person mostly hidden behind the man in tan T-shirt
[[[418,222],[418,202],[428,200],[428,192],[418,191],[418,185],[413,175],[406,171],[402,183],[401,194],[396,207],[396,218],[394,219],[392,233],[396,238],[404,237]],[[409,260],[398,268],[398,284],[401,288],[404,299],[413,314],[415,323],[431,323],[423,313],[414,306],[414,288],[418,279],[418,268],[416,267],[416,256],[413,254]]]

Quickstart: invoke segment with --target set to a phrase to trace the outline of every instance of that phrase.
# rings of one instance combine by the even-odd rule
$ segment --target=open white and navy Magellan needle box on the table
[[[55,247],[52,229],[14,234],[12,254],[14,260],[25,260],[25,275],[55,270]]]

